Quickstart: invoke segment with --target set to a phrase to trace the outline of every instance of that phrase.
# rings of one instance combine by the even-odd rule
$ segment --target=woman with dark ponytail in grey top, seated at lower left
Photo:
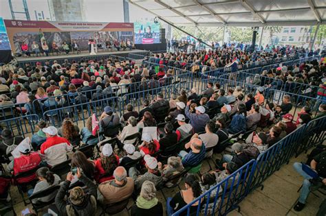
[[[61,179],[58,175],[52,173],[49,168],[47,167],[41,167],[36,171],[36,176],[39,178],[39,182],[36,183],[34,189],[30,189],[28,191],[28,195],[31,196],[34,193],[44,191],[45,189],[48,189],[49,187],[58,185],[61,182]],[[33,203],[36,202],[50,202],[51,200],[56,197],[56,192],[47,195],[46,197],[38,198],[32,200]]]

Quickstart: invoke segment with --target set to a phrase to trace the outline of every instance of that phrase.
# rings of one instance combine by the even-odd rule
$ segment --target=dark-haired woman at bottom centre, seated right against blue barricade
[[[186,190],[182,190],[173,198],[168,197],[168,200],[166,200],[166,211],[168,215],[172,215],[176,211],[179,211],[181,208],[202,195],[202,187],[200,187],[199,181],[194,174],[188,174],[186,176],[184,186],[186,187]],[[199,202],[197,201],[191,206],[190,214],[197,212],[197,208],[200,208],[198,204]],[[203,202],[201,202],[201,204],[203,204]],[[187,215],[187,211],[183,211],[180,215]]]

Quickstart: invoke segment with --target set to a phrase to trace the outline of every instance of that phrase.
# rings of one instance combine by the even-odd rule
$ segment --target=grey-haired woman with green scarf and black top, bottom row
[[[131,215],[163,215],[162,203],[157,200],[153,182],[146,180],[142,183],[140,196],[131,208]]]

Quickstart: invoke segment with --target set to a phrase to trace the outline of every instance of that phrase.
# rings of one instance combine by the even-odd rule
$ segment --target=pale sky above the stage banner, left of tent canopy
[[[123,22],[122,0],[80,0],[85,5],[85,21],[89,22]],[[28,10],[32,20],[36,12],[43,11],[45,17],[50,17],[47,0],[27,0]],[[12,0],[15,11],[23,11],[22,0]],[[4,19],[12,19],[8,0],[0,0],[0,16]],[[16,19],[24,19],[25,15],[16,14]],[[131,23],[142,19],[153,19],[153,14],[146,12],[129,3],[129,21]]]

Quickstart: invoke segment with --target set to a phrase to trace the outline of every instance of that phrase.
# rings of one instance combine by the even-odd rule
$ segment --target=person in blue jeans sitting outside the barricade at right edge
[[[326,151],[315,156],[310,163],[310,167],[303,163],[294,163],[293,167],[305,178],[298,202],[294,206],[295,211],[301,211],[305,207],[305,202],[310,191],[316,190],[326,184]]]

